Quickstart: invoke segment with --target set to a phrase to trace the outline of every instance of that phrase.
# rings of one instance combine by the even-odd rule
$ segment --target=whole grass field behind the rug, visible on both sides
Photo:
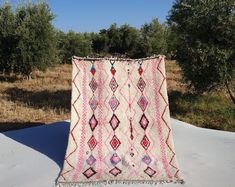
[[[33,72],[31,80],[0,76],[0,131],[70,118],[71,65]],[[181,70],[166,62],[171,116],[212,129],[235,131],[235,107],[224,92],[196,96],[187,92]]]

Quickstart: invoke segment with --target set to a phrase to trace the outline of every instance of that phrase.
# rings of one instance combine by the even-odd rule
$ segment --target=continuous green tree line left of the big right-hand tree
[[[98,33],[63,32],[52,25],[55,18],[45,2],[26,2],[12,10],[0,6],[0,72],[29,76],[56,62],[71,63],[77,56],[141,58],[168,53],[169,29],[158,19],[140,29],[112,24]]]

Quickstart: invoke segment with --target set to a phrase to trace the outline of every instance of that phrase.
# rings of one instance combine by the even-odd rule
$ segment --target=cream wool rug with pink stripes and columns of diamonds
[[[72,63],[71,126],[57,184],[182,182],[164,57]]]

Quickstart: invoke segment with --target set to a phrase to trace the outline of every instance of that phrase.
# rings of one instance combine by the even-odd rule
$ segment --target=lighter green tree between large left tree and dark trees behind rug
[[[69,31],[67,34],[58,31],[57,41],[59,58],[62,63],[70,63],[73,55],[88,56],[92,53],[91,35]]]

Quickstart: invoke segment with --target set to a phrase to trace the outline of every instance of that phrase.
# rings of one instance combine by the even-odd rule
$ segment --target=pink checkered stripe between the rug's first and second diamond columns
[[[102,175],[102,126],[104,124],[103,120],[103,95],[102,95],[102,69],[103,69],[103,62],[98,62],[98,159],[97,159],[97,175],[96,179],[100,179]]]

